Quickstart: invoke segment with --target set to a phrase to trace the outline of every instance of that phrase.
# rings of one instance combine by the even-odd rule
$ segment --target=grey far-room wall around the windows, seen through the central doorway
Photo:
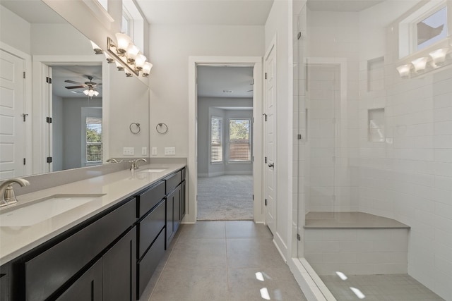
[[[251,164],[210,164],[209,161],[209,141],[210,141],[210,116],[223,117],[224,130],[227,128],[227,118],[231,117],[243,117],[252,118],[252,111],[242,111],[242,110],[224,110],[217,109],[218,115],[210,112],[209,108],[213,107],[227,107],[227,106],[253,106],[253,99],[242,99],[242,98],[224,98],[224,97],[199,97],[198,98],[198,176],[213,176],[215,173],[220,174],[251,174]],[[227,137],[227,132],[223,134],[223,137]],[[226,140],[225,140],[226,142]],[[227,154],[224,154],[227,158]],[[211,168],[218,169],[214,171]],[[209,172],[210,171],[210,172]]]

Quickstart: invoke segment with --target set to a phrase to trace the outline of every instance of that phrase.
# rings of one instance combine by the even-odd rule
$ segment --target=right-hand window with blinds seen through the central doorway
[[[250,120],[230,119],[229,121],[229,160],[251,161]]]

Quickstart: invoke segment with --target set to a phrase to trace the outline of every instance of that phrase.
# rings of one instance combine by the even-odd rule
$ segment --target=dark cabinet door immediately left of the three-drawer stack
[[[136,230],[131,229],[102,257],[105,301],[136,301]]]

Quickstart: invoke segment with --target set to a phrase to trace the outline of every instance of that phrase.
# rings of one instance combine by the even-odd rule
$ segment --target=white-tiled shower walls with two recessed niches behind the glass
[[[330,260],[359,266],[366,247],[379,248],[376,266],[396,260],[408,273],[374,268],[375,274],[408,274],[452,300],[451,1],[333,2],[294,1],[294,219],[300,234],[294,252],[309,262],[307,240],[328,236],[305,228],[309,212],[393,219],[409,227],[406,238],[400,231],[374,233],[405,240],[405,254],[386,252],[378,238],[352,237]],[[427,17],[444,7],[451,12],[444,25],[429,23]],[[432,27],[427,37],[425,25]],[[407,31],[410,26],[416,30]],[[446,49],[444,61],[434,59],[436,49]],[[417,59],[427,65],[419,67]],[[400,66],[408,66],[408,74]]]

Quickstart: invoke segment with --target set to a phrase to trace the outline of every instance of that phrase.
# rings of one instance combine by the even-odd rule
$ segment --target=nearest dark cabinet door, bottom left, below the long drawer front
[[[78,278],[57,301],[102,301],[102,259]]]

